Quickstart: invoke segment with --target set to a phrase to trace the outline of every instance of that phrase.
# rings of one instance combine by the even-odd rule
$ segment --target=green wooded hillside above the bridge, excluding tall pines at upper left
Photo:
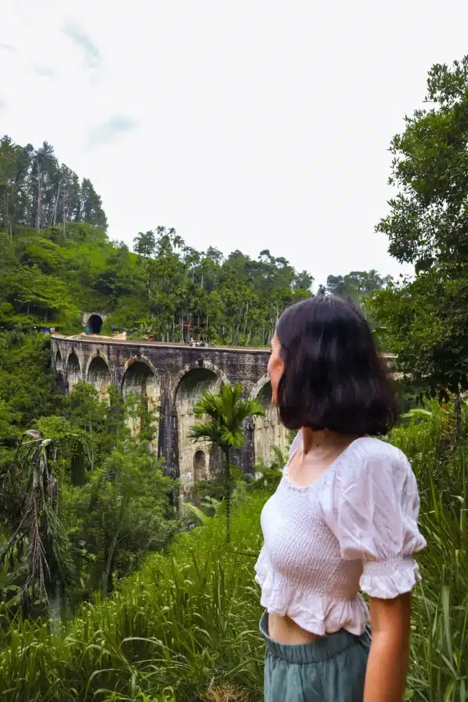
[[[135,248],[86,223],[0,232],[1,323],[73,333],[82,331],[82,311],[100,310],[110,315],[103,331],[114,324],[178,341],[181,325],[191,324],[206,340],[265,344],[284,307],[311,294],[312,277],[267,251],[258,260],[240,251],[224,259],[163,227],[139,234]]]

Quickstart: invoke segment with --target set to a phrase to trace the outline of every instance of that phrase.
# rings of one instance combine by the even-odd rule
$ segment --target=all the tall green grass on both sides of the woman
[[[458,444],[450,412],[435,407],[390,437],[417,475],[428,542],[413,595],[413,702],[468,698],[467,411],[462,419]],[[170,556],[151,557],[109,600],[84,605],[64,630],[13,622],[0,649],[4,700],[260,702],[253,564],[266,498],[253,492],[237,508],[229,551],[223,520],[211,519],[180,536]]]

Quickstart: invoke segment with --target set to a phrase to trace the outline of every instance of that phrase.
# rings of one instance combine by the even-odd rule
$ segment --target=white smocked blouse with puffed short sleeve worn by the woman
[[[291,458],[262,510],[265,543],[255,564],[262,607],[318,635],[360,635],[369,620],[359,588],[392,599],[420,580],[413,554],[419,496],[408,459],[391,444],[362,437],[313,483],[295,485]]]

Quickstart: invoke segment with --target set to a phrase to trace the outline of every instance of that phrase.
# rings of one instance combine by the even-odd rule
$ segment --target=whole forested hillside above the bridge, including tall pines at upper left
[[[109,314],[103,333],[114,326],[163,341],[265,346],[284,308],[311,295],[312,276],[267,250],[257,259],[241,251],[225,258],[215,246],[196,251],[160,226],[137,234],[133,253],[109,241],[100,199],[87,184],[58,166],[50,145],[34,151],[0,141],[3,326],[74,333],[83,331],[81,312],[100,311]],[[361,300],[389,282],[357,271],[330,275],[326,290]]]

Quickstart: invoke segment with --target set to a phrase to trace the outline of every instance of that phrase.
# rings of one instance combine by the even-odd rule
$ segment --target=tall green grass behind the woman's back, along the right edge
[[[468,699],[468,411],[455,444],[455,418],[432,405],[432,416],[392,433],[410,457],[420,487],[420,529],[427,548],[418,557],[422,583],[413,592],[408,698]]]

